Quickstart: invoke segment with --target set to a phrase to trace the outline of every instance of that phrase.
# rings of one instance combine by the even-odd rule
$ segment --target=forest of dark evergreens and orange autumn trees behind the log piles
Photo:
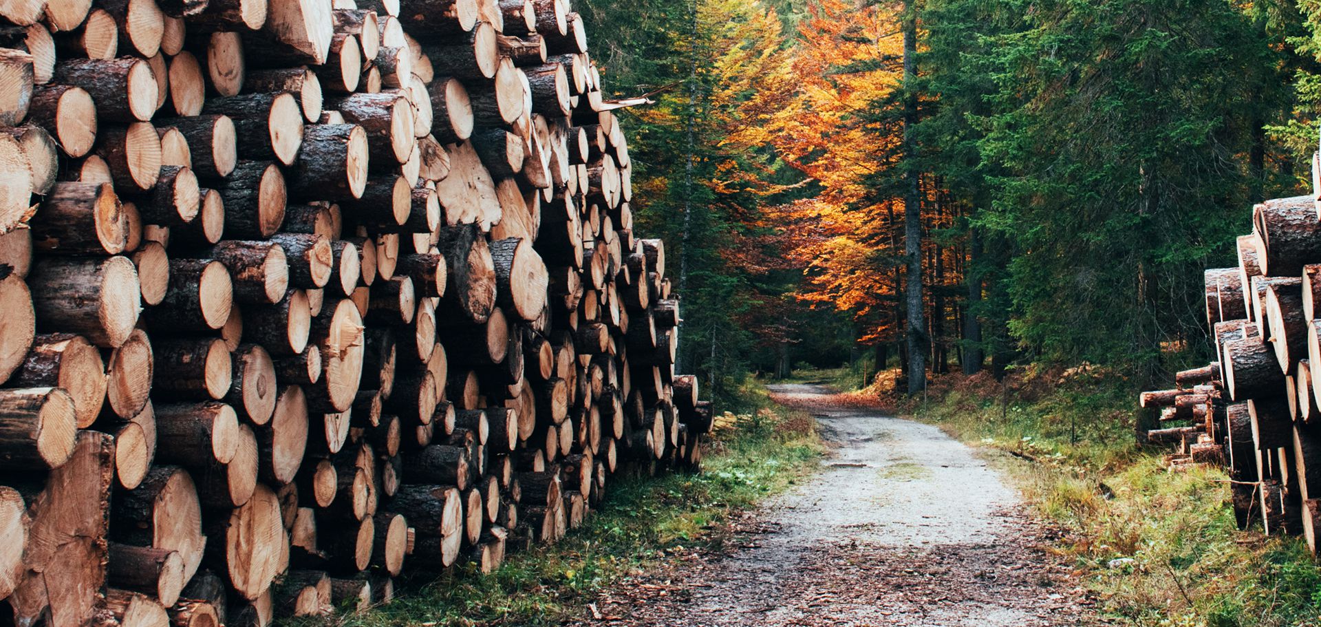
[[[1308,193],[1321,3],[580,0],[680,370],[1205,356],[1202,269]],[[925,377],[908,377],[921,389]]]

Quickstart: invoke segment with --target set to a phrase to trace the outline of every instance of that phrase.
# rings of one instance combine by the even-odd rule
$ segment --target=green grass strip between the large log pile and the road
[[[758,410],[716,421],[701,474],[620,479],[605,507],[552,546],[510,556],[489,575],[460,566],[403,579],[395,602],[343,626],[552,626],[605,586],[712,546],[727,519],[794,484],[822,454],[804,414]],[[712,546],[713,548],[713,546]]]

